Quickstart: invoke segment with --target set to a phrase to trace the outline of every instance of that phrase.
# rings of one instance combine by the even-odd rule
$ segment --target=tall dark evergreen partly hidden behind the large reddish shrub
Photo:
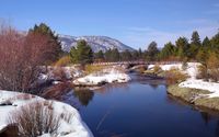
[[[61,44],[58,39],[58,36],[55,34],[55,32],[51,31],[51,28],[48,25],[46,25],[45,23],[41,23],[39,25],[35,24],[34,28],[31,28],[28,31],[28,34],[32,33],[42,34],[50,38],[50,44],[54,48],[54,50],[51,50],[51,53],[48,55],[50,56],[50,61],[55,61],[58,58],[60,58],[60,56],[62,55]]]

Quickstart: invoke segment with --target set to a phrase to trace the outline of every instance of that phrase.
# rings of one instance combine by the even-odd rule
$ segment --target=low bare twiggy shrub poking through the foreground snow
[[[36,101],[12,113],[8,123],[18,125],[20,137],[37,137],[47,133],[57,135],[60,116],[54,114],[53,102]]]

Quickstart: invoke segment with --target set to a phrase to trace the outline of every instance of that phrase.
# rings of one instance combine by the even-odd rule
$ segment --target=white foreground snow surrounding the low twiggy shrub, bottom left
[[[46,100],[36,95],[0,90],[0,104],[4,104],[0,105],[0,130],[9,125],[7,119],[12,112],[35,101],[43,103]],[[79,112],[74,107],[57,101],[49,102],[53,102],[53,110],[55,114],[71,115],[69,122],[66,122],[64,118],[61,119],[60,128],[57,130],[58,137],[93,137],[92,133],[85,123],[83,123]],[[51,136],[45,133],[41,137]]]

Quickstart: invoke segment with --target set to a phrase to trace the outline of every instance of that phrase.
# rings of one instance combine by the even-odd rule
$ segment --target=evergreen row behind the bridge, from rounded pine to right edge
[[[83,48],[84,45],[85,48]],[[78,54],[76,50],[80,50]],[[84,52],[83,52],[84,50]],[[87,52],[88,54],[87,54]],[[145,61],[200,61],[204,62],[209,58],[209,55],[219,53],[219,33],[214,37],[200,41],[197,31],[193,32],[191,39],[186,37],[178,37],[175,43],[166,43],[163,48],[158,48],[155,42],[151,42],[148,48],[141,50],[124,50],[119,52],[117,48],[100,50],[93,53],[90,46],[83,41],[79,42],[77,47],[72,47],[70,55],[72,62],[83,58],[85,62],[93,61],[129,61],[129,60],[145,60]],[[80,58],[80,59],[79,59]],[[82,61],[78,61],[82,62]],[[84,64],[84,62],[82,62]]]

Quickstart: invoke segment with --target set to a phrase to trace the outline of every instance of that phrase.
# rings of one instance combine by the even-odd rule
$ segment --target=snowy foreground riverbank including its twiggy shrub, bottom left
[[[25,135],[31,128],[42,132],[36,133],[42,137],[93,137],[74,107],[32,94],[0,90],[0,136],[7,136],[9,125],[15,124],[18,132]]]

